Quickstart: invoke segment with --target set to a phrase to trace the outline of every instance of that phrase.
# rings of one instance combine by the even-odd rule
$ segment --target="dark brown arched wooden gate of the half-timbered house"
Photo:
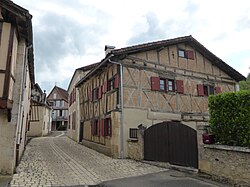
[[[144,159],[198,168],[197,132],[179,122],[163,122],[144,134]]]

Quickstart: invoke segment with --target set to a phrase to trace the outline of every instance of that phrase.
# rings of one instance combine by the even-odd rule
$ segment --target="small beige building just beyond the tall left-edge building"
[[[31,97],[28,136],[47,136],[51,132],[52,108],[47,102],[46,93],[38,84],[35,84]]]

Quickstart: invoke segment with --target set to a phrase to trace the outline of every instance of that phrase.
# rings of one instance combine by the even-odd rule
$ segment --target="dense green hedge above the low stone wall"
[[[250,91],[211,95],[210,127],[217,142],[250,147]]]

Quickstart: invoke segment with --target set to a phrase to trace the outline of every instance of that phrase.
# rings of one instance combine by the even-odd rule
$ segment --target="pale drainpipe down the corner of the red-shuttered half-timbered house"
[[[112,55],[113,56],[113,55]],[[111,56],[111,57],[112,57]],[[117,64],[120,66],[120,87],[119,87],[119,92],[120,92],[120,105],[121,105],[121,118],[120,118],[120,150],[119,150],[119,157],[121,159],[124,158],[124,110],[123,110],[123,67],[122,64],[119,62],[114,62],[109,59],[109,62],[112,64]]]

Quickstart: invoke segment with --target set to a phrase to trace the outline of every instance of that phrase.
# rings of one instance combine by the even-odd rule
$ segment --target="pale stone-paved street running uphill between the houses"
[[[185,173],[130,159],[113,159],[62,134],[33,138],[11,186],[218,187]]]

